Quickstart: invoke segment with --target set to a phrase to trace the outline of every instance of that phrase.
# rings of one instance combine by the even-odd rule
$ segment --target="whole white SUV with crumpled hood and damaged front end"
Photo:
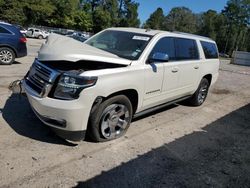
[[[38,118],[69,140],[125,134],[135,116],[188,99],[218,77],[216,43],[156,30],[110,28],[81,43],[52,34],[23,81]]]

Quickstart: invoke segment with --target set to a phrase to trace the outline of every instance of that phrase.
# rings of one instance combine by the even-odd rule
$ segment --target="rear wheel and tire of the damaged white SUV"
[[[198,89],[192,97],[188,99],[188,103],[192,106],[201,106],[207,98],[209,86],[209,81],[206,78],[202,78]]]

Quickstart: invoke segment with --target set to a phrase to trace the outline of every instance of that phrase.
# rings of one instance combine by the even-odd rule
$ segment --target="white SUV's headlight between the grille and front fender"
[[[80,92],[95,85],[97,77],[81,77],[74,74],[63,74],[54,92],[54,97],[64,100],[73,100],[79,97]]]

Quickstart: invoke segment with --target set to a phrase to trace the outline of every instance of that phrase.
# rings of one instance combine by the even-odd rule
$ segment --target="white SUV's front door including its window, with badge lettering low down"
[[[164,53],[169,56],[168,62],[145,63],[145,92],[143,107],[149,108],[168,101],[166,92],[178,89],[179,71],[174,71],[172,62],[175,57],[174,39],[161,38],[154,46],[149,57],[155,53]],[[169,74],[169,70],[173,70]]]

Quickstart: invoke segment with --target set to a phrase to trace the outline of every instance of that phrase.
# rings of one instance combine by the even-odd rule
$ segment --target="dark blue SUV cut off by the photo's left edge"
[[[27,55],[26,38],[11,24],[0,22],[0,64],[10,65]]]

